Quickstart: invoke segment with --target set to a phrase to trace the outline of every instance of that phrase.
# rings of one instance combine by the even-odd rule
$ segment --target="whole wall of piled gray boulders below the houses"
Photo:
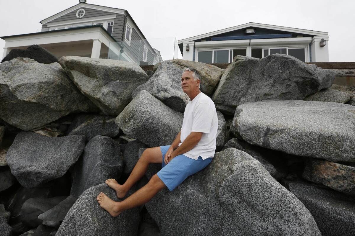
[[[219,110],[215,157],[174,191],[111,217],[95,200],[103,191],[118,201],[105,179],[123,183],[145,148],[170,145],[181,129],[185,67],[200,71]],[[355,90],[333,80],[282,54],[236,57],[225,71],[179,59],[154,73],[83,57],[1,63],[1,232],[354,235]]]

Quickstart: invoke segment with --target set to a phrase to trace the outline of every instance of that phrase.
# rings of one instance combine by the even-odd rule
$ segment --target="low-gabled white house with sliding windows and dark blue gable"
[[[178,41],[182,57],[204,63],[230,63],[236,55],[263,58],[282,53],[303,62],[329,62],[327,32],[246,23]]]

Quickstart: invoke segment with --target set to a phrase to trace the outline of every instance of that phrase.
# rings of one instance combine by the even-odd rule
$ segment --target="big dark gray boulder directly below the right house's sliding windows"
[[[262,59],[236,56],[224,71],[212,100],[216,109],[234,114],[235,108],[246,102],[303,100],[331,87],[334,79],[332,71],[284,54]]]

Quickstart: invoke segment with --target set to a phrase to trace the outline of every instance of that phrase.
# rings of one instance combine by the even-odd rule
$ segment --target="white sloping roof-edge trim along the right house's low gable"
[[[184,41],[195,41],[198,39],[212,37],[217,34],[228,33],[230,31],[239,30],[239,29],[248,28],[248,27],[258,27],[258,28],[264,28],[264,29],[281,30],[281,31],[288,31],[288,32],[293,32],[293,33],[298,33],[298,34],[310,34],[310,35],[315,35],[315,36],[327,36],[328,35],[328,32],[322,32],[322,31],[297,29],[297,28],[283,27],[283,26],[278,26],[278,25],[259,24],[259,23],[249,22],[246,24],[237,25],[237,26],[230,27],[230,28],[216,30],[216,31],[209,32],[206,34],[201,34],[201,35],[193,36],[190,38],[181,39],[178,41],[178,44],[181,44]]]

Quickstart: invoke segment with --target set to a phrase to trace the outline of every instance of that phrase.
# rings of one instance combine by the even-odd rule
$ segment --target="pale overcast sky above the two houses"
[[[79,0],[0,0],[0,36],[34,33]],[[328,32],[329,61],[355,61],[354,0],[87,0],[127,10],[147,39],[177,40],[248,22]],[[5,41],[0,39],[0,58]]]

